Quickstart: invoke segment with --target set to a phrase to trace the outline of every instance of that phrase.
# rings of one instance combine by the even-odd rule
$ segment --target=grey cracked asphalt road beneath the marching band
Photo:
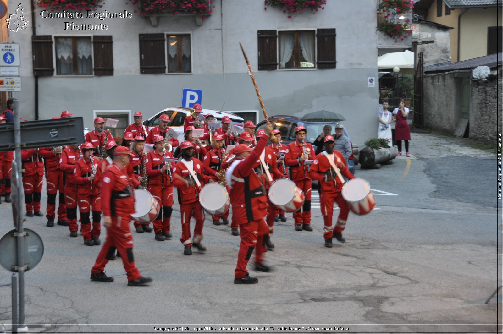
[[[312,210],[313,232],[294,231],[289,215],[275,225],[276,248],[266,255],[274,272],[254,272],[253,257],[248,265],[259,277],[255,285],[232,283],[239,237],[211,220],[203,230],[207,252],[190,257],[178,240],[179,211],[172,240],[133,232],[137,266],[154,281],[128,287],[119,261],[106,268],[113,283],[89,279],[100,246],[70,238],[66,227],[46,227],[45,218],[27,218],[25,227],[41,235],[45,254],[26,273],[26,323],[47,332],[243,332],[223,329],[236,324],[269,325],[269,331],[283,324],[286,332],[292,324],[301,331],[325,325],[318,329],[325,332],[337,325],[348,331],[495,331],[501,297],[483,302],[501,284],[496,156],[468,144],[412,133],[411,158],[397,157],[380,170],[357,168],[356,176],[376,190],[376,209],[350,214],[347,242],[333,248],[323,246],[318,208]],[[0,235],[13,228],[11,216],[10,206],[1,204]],[[0,269],[0,285],[10,275]],[[0,323],[7,324],[10,291],[2,287],[0,294]],[[195,324],[213,329],[176,329]]]

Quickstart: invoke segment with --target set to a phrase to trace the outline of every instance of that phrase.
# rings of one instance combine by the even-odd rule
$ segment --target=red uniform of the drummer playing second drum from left
[[[199,180],[201,187],[198,187],[194,182],[190,172],[193,170]],[[177,176],[186,180],[192,181],[192,184],[187,184],[181,181]],[[184,246],[192,246],[190,234],[190,218],[196,219],[196,226],[194,227],[194,242],[199,243],[203,238],[203,223],[204,213],[201,204],[199,203],[199,192],[204,183],[209,181],[210,178],[203,174],[203,163],[201,160],[192,158],[190,161],[181,159],[175,164],[173,169],[173,186],[178,190],[178,201],[180,203],[180,213],[182,214],[182,237],[180,241]]]

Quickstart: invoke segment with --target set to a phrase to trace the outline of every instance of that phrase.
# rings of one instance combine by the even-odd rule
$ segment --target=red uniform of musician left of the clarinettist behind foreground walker
[[[77,224],[77,183],[75,181],[76,163],[79,158],[78,149],[67,146],[61,153],[59,168],[64,172],[64,197],[66,218],[70,232],[78,230]]]

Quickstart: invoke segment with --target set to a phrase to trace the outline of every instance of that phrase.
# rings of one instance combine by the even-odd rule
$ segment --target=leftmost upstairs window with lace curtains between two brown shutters
[[[54,37],[58,75],[93,74],[91,37]]]

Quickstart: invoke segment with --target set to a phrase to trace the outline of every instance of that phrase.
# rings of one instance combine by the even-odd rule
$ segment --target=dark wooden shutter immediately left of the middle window
[[[164,34],[140,34],[140,73],[165,73]]]

